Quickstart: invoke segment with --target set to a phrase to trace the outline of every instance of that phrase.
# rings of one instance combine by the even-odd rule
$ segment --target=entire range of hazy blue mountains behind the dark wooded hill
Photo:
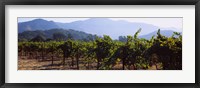
[[[46,32],[50,29],[65,29],[69,32],[69,29],[71,29],[71,31],[73,30],[75,33],[82,32],[83,35],[109,35],[113,39],[118,39],[119,36],[134,35],[134,33],[140,28],[142,28],[142,31],[139,36],[147,39],[152,35],[156,35],[158,29],[161,29],[161,34],[165,36],[171,36],[174,32],[173,30],[177,30],[175,28],[159,28],[145,23],[128,22],[123,20],[114,21],[108,18],[90,18],[84,21],[74,21],[71,23],[35,19],[18,23],[18,33],[20,33],[20,35],[27,31],[40,30]]]

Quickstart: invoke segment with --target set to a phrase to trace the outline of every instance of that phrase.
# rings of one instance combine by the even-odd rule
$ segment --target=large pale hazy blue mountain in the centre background
[[[97,35],[109,35],[117,39],[120,35],[134,35],[142,28],[141,35],[148,34],[158,27],[145,23],[132,23],[127,21],[113,21],[107,18],[91,18],[85,21],[59,24],[62,28],[70,28]]]

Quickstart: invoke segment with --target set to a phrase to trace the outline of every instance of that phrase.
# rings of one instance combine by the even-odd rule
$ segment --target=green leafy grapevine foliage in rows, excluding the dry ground
[[[121,64],[121,69],[149,69],[155,65],[156,69],[180,70],[182,69],[182,35],[174,32],[171,37],[160,34],[152,36],[150,40],[138,38],[141,29],[134,36],[122,37],[122,41],[112,40],[104,35],[102,38],[88,36],[88,39],[73,40],[71,35],[67,35],[66,41],[43,41],[42,37],[36,37],[32,41],[23,41],[18,44],[18,52],[40,52],[44,51],[52,56],[59,54],[65,58],[76,58],[77,69],[79,60],[83,59],[87,63],[97,63],[96,68],[101,70],[113,69],[117,64]],[[55,38],[59,36],[55,35]],[[73,60],[72,60],[73,63]]]

